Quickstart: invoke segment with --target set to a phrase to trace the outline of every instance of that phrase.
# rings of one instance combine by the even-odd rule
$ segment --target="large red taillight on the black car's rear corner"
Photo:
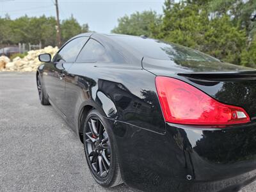
[[[188,83],[156,77],[156,88],[166,122],[189,125],[231,125],[250,122],[243,108],[223,104]]]

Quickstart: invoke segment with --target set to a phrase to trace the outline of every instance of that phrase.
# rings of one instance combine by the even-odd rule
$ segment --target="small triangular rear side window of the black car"
[[[109,57],[106,49],[96,40],[90,40],[84,45],[82,51],[79,53],[76,62],[78,63],[94,63],[94,62],[108,62]]]

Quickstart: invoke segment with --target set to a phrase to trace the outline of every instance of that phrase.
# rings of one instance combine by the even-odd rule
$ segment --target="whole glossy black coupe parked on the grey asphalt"
[[[36,72],[104,187],[238,191],[256,178],[256,72],[146,36],[84,33]]]

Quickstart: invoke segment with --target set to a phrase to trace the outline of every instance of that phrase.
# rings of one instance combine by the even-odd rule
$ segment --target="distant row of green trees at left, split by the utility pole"
[[[79,33],[88,31],[88,24],[80,26],[74,17],[61,22],[62,41]],[[43,46],[56,45],[56,19],[54,17],[23,16],[11,20],[10,17],[0,17],[0,44],[31,43]]]

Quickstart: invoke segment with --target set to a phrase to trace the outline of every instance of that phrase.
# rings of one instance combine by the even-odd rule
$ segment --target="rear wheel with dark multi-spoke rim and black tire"
[[[83,128],[85,157],[96,182],[104,188],[122,184],[116,147],[108,122],[97,110],[92,109]]]

